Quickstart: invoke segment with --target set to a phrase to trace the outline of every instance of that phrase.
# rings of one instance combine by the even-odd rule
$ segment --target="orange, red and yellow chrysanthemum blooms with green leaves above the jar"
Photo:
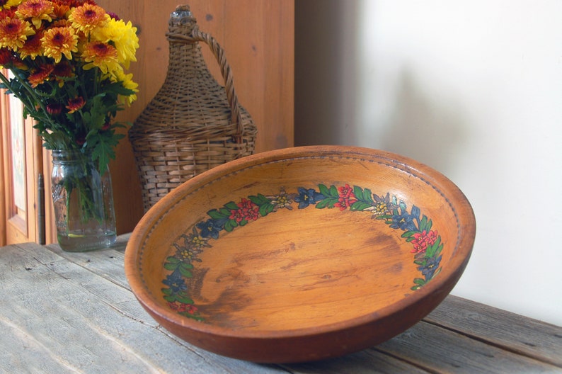
[[[105,171],[125,135],[113,123],[134,101],[126,74],[137,29],[93,0],[0,0],[1,87],[19,98],[47,149],[91,152]]]

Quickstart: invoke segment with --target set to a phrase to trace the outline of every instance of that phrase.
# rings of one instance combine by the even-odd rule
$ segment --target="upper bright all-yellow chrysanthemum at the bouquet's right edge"
[[[125,23],[110,18],[103,28],[96,28],[92,33],[93,38],[102,42],[111,42],[117,49],[119,62],[125,69],[129,69],[132,61],[137,61],[135,54],[139,47],[137,28],[132,26],[131,21]]]

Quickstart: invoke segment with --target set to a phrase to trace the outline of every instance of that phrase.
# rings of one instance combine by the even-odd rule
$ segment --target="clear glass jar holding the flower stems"
[[[64,251],[81,252],[115,243],[111,175],[100,174],[88,152],[52,151],[52,202],[57,239]]]

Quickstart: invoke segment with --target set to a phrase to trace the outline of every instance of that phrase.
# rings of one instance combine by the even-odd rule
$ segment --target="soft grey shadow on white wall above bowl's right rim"
[[[411,157],[447,176],[454,174],[469,142],[461,107],[451,99],[443,102],[432,98],[408,70],[402,72],[397,84],[394,110],[380,130],[380,147]]]

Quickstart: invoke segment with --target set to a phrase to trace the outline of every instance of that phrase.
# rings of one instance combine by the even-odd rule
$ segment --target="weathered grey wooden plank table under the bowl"
[[[125,240],[84,254],[0,248],[0,373],[562,373],[562,327],[454,296],[394,339],[342,358],[217,356],[144,312],[123,271]]]

